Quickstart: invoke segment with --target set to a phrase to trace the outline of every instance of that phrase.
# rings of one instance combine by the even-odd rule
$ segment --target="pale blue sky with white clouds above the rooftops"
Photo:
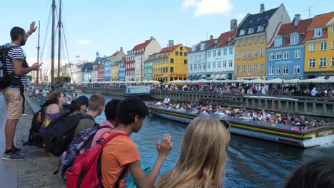
[[[231,19],[237,19],[239,24],[246,14],[257,14],[260,4],[265,4],[265,10],[284,4],[291,20],[295,14],[308,19],[309,14],[313,17],[334,11],[330,6],[332,0],[62,0],[61,59],[64,62],[94,61],[96,52],[100,56],[111,56],[121,47],[126,53],[151,36],[162,48],[168,45],[168,40],[191,47],[210,35],[216,38],[229,31]],[[44,71],[49,70],[51,64],[51,5],[52,0],[1,1],[0,44],[11,41],[9,32],[14,26],[29,31],[31,21],[36,21],[36,26],[40,21]],[[56,0],[56,9],[57,23],[59,0]],[[36,62],[37,46],[38,29],[23,46],[29,64]],[[58,41],[56,57],[57,49]]]

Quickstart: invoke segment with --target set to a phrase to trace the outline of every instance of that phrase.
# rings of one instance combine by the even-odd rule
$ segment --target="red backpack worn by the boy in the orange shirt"
[[[118,135],[128,137],[125,133],[113,133],[105,140],[101,140],[99,144],[79,155],[73,166],[66,172],[66,187],[81,187],[81,185],[82,187],[103,187],[101,172],[102,149],[104,145]],[[118,187],[120,180],[123,179],[126,169],[127,167],[121,172],[115,187]]]

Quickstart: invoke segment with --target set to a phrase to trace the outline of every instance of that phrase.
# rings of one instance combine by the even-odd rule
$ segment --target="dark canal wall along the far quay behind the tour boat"
[[[125,89],[81,88],[87,93],[102,93],[105,95],[124,96]],[[276,113],[292,113],[334,118],[334,99],[298,97],[283,95],[218,95],[212,92],[198,91],[164,91],[151,90],[153,100],[164,100],[169,95],[173,103],[204,103],[209,105],[232,106],[234,108],[249,108],[268,110]]]

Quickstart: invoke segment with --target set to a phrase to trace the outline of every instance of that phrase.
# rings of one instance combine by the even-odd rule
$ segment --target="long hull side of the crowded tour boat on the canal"
[[[182,112],[180,110],[168,109],[148,105],[151,113],[169,120],[189,123],[196,114]],[[230,123],[230,132],[255,137],[273,142],[280,142],[298,147],[315,147],[330,145],[334,142],[334,123],[329,122],[323,125],[310,125],[307,127],[283,125],[277,123],[266,123],[234,117],[215,117],[226,120]]]

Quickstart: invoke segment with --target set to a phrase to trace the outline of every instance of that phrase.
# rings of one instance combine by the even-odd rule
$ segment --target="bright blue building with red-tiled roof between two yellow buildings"
[[[280,30],[273,38],[273,44],[267,48],[265,78],[303,79],[304,38],[311,21],[312,19],[300,20],[300,14],[296,14],[292,23],[280,26]]]

